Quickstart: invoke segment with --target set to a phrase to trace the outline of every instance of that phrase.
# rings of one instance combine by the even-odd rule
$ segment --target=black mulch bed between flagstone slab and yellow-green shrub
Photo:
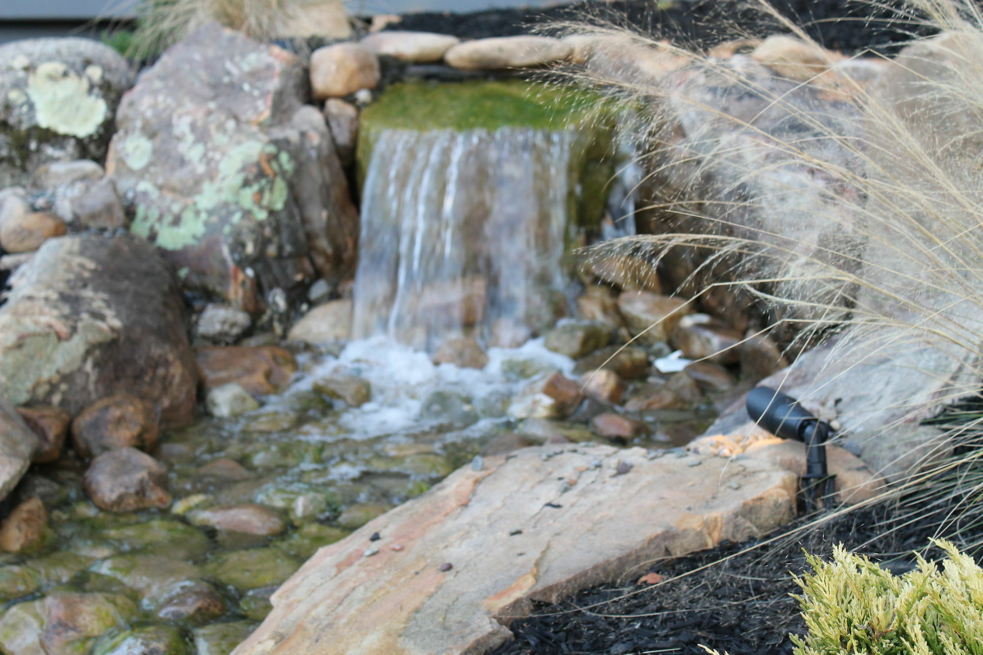
[[[940,518],[952,508],[951,503],[871,506],[744,554],[735,555],[759,542],[724,543],[655,563],[633,571],[620,584],[585,590],[558,605],[539,604],[533,616],[511,625],[515,640],[494,655],[705,655],[699,644],[722,654],[785,655],[792,652],[789,632],[805,633],[798,602],[790,596],[800,591],[790,572],[807,569],[803,550],[825,557],[842,543],[899,574],[913,568],[912,551],[929,559],[941,556],[937,550],[926,551],[926,546],[936,536]],[[807,522],[799,518],[788,528]],[[960,538],[974,543],[981,535],[983,526],[971,526]],[[710,564],[714,566],[656,587],[636,583],[648,572],[669,580]]]

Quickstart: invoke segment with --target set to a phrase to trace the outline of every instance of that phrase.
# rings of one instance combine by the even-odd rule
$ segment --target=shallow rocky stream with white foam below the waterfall
[[[686,374],[652,369],[651,349],[630,349],[609,368],[612,347],[578,364],[543,341],[491,348],[483,368],[434,364],[384,340],[352,342],[337,356],[300,349],[292,378],[274,381],[262,368],[260,380],[284,390],[256,395],[259,407],[220,417],[202,403],[195,423],[143,445],[166,471],[169,494],[145,509],[95,506],[84,491],[87,464],[72,451],[36,466],[17,494],[19,503],[43,502],[44,538],[24,552],[0,553],[0,648],[42,652],[39,639],[63,638],[53,623],[59,613],[78,609],[78,621],[89,612],[95,622],[73,628],[72,639],[84,643],[65,647],[79,652],[226,654],[319,548],[459,467],[543,443],[681,446],[713,419],[713,394],[673,378]],[[560,390],[577,398],[583,372],[611,368],[624,374],[623,398],[585,396],[562,418],[509,414],[531,387],[555,395],[556,385],[544,381],[562,382]],[[684,397],[679,408],[625,409],[630,398],[664,386]],[[398,544],[390,546],[383,550]],[[366,557],[373,548],[382,547],[367,541]],[[444,574],[454,574],[459,563],[448,564]]]

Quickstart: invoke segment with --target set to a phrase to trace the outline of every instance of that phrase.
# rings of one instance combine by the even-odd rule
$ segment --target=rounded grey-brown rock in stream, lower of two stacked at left
[[[106,511],[137,511],[171,504],[167,473],[137,448],[116,448],[92,460],[86,471],[86,494]]]

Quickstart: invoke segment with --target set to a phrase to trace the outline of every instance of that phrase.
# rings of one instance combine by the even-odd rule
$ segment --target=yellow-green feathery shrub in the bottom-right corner
[[[901,576],[841,546],[833,560],[810,557],[797,579],[808,635],[796,655],[978,655],[983,653],[983,569],[947,541],[942,566],[918,557]]]

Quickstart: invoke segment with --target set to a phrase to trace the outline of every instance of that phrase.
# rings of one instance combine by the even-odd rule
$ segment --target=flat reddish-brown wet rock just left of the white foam
[[[297,371],[297,360],[277,346],[202,348],[195,353],[205,388],[237,383],[250,393],[282,390]]]

